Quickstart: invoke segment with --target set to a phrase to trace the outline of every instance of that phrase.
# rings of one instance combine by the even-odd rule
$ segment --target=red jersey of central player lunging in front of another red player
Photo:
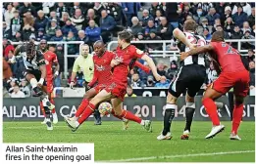
[[[117,48],[116,51],[116,56],[114,57],[115,60],[119,61],[120,64],[114,67],[113,71],[113,82],[115,83],[122,83],[122,84],[127,84],[128,82],[128,64],[131,62],[131,60],[136,60],[142,58],[144,53],[137,49],[133,45],[129,45],[125,49],[121,49],[120,47]]]

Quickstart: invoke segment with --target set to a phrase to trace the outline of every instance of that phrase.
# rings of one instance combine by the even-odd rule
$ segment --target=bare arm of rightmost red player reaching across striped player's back
[[[211,44],[206,45],[206,46],[202,46],[202,47],[197,47],[196,49],[192,49],[192,50],[190,50],[188,52],[180,53],[180,60],[183,61],[188,56],[193,56],[193,55],[197,55],[197,54],[207,53],[207,52],[210,52],[210,51],[214,51],[214,47]]]

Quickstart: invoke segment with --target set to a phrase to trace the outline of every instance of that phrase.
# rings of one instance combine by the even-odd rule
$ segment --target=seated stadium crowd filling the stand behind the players
[[[3,58],[9,63],[13,79],[4,83],[12,98],[30,97],[29,86],[23,76],[23,60],[11,63],[16,45],[12,42],[25,42],[29,39],[40,41],[83,41],[92,47],[97,40],[108,43],[115,39],[117,32],[128,28],[133,40],[174,40],[173,30],[182,29],[186,20],[198,23],[197,34],[210,40],[215,31],[224,31],[226,39],[255,38],[255,3],[4,3],[3,9]],[[237,43],[231,43],[237,48]],[[162,44],[139,44],[137,47],[150,56],[151,50],[163,50]],[[255,42],[243,42],[242,49],[248,50],[244,62],[248,63],[251,74],[251,89],[255,86]],[[169,47],[177,50],[176,45]],[[62,44],[50,45],[60,63],[60,72],[64,71],[64,47]],[[76,44],[68,45],[69,55],[78,55]],[[69,58],[69,68],[75,60]],[[143,63],[147,65],[147,63]],[[206,84],[211,83],[217,74],[209,62]],[[179,69],[179,61],[157,62],[160,75],[167,80],[155,82],[151,74],[138,68],[130,70],[131,87],[168,87]],[[55,80],[61,85],[62,77]],[[82,81],[82,72],[77,73],[77,80]],[[82,87],[82,82],[76,83]]]

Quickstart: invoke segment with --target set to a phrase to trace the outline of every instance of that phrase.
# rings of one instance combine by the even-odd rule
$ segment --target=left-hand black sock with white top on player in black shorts
[[[170,132],[172,121],[175,117],[177,105],[167,103],[166,104],[166,111],[164,116],[164,130],[162,132],[162,135],[166,136],[168,132]]]

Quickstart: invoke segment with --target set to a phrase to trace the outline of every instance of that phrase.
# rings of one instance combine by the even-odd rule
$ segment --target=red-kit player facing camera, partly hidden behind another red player
[[[84,98],[82,102],[80,103],[79,107],[77,108],[76,115],[73,118],[67,118],[67,119],[73,119],[76,120],[81,115],[81,113],[84,111],[86,106],[89,104],[89,100],[95,97],[101,90],[105,89],[108,85],[111,84],[112,80],[112,67],[110,65],[112,59],[114,58],[115,54],[113,52],[106,51],[105,45],[103,41],[99,40],[94,43],[93,45],[95,56],[93,56],[93,62],[94,62],[94,74],[93,79],[88,84],[88,88],[93,87],[96,83],[97,85],[94,88],[91,88],[89,91],[86,92],[84,95]],[[131,63],[133,64],[133,63]],[[134,62],[135,66],[138,66],[142,70],[149,73],[150,69],[140,62]],[[133,65],[131,65],[132,67]],[[129,111],[128,111],[129,112]],[[113,114],[115,117],[121,119],[124,121],[124,130],[128,128],[128,119],[126,119],[126,115],[124,117],[121,117],[117,114],[115,114],[115,111],[112,110],[111,114]]]

